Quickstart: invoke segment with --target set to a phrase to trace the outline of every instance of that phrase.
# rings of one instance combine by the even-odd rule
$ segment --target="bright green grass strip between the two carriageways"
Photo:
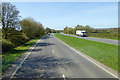
[[[62,34],[55,34],[55,36],[76,50],[118,71],[117,45],[95,42]]]

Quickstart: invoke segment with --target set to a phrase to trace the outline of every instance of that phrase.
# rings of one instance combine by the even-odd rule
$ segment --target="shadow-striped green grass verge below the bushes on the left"
[[[33,44],[35,44],[37,40],[39,40],[43,36],[45,35],[32,39],[26,42],[24,45],[18,46],[12,49],[11,51],[7,52],[6,54],[3,54],[2,55],[2,73],[4,73],[7,70],[7,68],[10,66],[12,62],[14,62],[19,56],[21,56]]]

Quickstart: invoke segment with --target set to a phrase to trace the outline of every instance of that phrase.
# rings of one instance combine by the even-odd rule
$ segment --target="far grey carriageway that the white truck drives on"
[[[103,42],[103,43],[108,43],[108,44],[120,45],[120,41],[118,41],[118,40],[94,38],[94,37],[80,37],[80,36],[71,35],[71,34],[64,34],[64,33],[61,33],[61,34],[67,35],[67,36],[78,37],[78,38],[82,38],[82,39],[87,39],[87,40],[92,40],[92,41],[97,41],[97,42]]]

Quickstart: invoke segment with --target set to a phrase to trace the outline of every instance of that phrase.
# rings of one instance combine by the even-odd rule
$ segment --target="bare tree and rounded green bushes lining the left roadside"
[[[21,20],[16,6],[3,2],[0,5],[0,18],[2,24],[2,51],[7,52],[14,47],[25,44],[27,41],[44,35],[45,29],[40,22],[33,18]]]

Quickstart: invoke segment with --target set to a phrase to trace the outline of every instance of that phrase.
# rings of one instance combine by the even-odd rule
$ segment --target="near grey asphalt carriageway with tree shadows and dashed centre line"
[[[12,75],[10,71],[7,73]],[[12,78],[45,78],[46,80],[48,78],[61,78],[61,80],[93,78],[91,80],[96,80],[94,78],[114,78],[114,76],[62,44],[54,35],[47,35],[38,42]]]

